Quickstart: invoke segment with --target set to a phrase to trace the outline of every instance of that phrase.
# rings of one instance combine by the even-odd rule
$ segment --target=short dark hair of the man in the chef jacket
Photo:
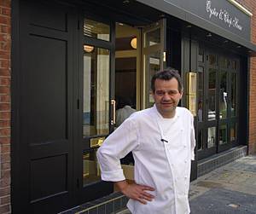
[[[166,68],[165,70],[163,71],[159,71],[159,72],[156,72],[154,73],[154,76],[152,77],[151,79],[151,90],[154,92],[155,88],[154,88],[154,82],[156,79],[163,79],[163,80],[170,80],[172,78],[176,78],[177,79],[177,84],[178,84],[178,88],[177,90],[179,92],[183,91],[183,83],[182,83],[182,80],[181,80],[181,77],[178,73],[177,70],[169,67],[169,68]]]

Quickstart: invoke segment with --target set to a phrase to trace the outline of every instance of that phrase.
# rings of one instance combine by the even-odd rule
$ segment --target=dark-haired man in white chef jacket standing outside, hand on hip
[[[99,148],[102,180],[117,184],[130,198],[133,214],[189,213],[190,159],[194,159],[193,116],[177,107],[183,95],[177,71],[166,69],[151,81],[154,107],[133,113]],[[128,184],[119,159],[135,160],[135,183]]]

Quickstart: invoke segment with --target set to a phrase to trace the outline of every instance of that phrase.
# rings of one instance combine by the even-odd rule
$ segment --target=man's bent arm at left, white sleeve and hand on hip
[[[138,200],[146,204],[146,200],[152,200],[153,195],[148,194],[146,190],[153,191],[150,188],[138,184],[128,184],[120,165],[119,159],[138,147],[137,124],[132,123],[130,119],[125,120],[121,126],[115,130],[103,142],[97,151],[97,159],[101,166],[102,180],[115,182],[121,193],[128,198]]]

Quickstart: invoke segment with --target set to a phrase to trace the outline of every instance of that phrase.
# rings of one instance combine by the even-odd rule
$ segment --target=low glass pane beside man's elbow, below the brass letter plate
[[[83,186],[101,180],[101,171],[96,159],[96,150],[83,153]]]

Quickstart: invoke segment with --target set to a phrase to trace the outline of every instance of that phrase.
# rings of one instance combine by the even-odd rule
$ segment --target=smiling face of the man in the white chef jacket
[[[153,98],[155,106],[164,118],[172,118],[175,108],[182,98],[183,92],[178,91],[176,78],[170,80],[155,79]]]

